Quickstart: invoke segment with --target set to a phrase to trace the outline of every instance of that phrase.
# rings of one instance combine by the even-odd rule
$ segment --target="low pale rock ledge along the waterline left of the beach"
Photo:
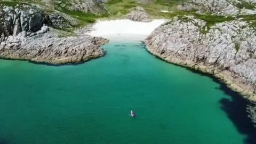
[[[42,27],[43,29],[44,27]],[[52,64],[76,63],[104,55],[100,45],[108,42],[101,37],[79,36],[59,38],[49,31],[45,34],[9,36],[0,45],[0,58],[29,60]]]

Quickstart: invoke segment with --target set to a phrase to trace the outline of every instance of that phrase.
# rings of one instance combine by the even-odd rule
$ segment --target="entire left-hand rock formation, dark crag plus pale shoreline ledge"
[[[3,6],[0,12],[0,58],[43,63],[73,63],[100,57],[101,37],[78,36],[59,38],[49,26],[69,28],[59,14],[45,14],[29,5]],[[50,31],[49,31],[50,30]]]

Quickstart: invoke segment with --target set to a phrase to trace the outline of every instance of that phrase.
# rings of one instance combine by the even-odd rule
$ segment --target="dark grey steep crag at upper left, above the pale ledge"
[[[22,7],[22,10],[20,9]],[[47,22],[45,14],[36,7],[22,6],[3,6],[0,5],[0,25],[1,40],[10,35],[16,36],[21,31],[34,33],[41,29]]]

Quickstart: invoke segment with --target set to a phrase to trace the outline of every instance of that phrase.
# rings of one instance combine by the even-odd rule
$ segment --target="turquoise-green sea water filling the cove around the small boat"
[[[142,48],[110,42],[59,67],[0,60],[0,143],[244,143],[220,84]]]

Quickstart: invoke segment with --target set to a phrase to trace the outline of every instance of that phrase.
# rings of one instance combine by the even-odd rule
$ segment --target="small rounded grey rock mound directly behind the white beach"
[[[127,19],[132,21],[150,22],[148,13],[141,6],[131,9],[131,12],[126,15]]]

